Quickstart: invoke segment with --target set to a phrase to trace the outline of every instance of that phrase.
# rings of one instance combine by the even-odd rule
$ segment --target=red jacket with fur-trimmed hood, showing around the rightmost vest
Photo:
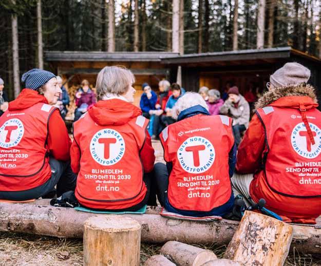
[[[279,98],[279,95],[288,96]],[[309,86],[290,87],[280,93],[269,91],[259,100],[257,107],[272,106],[299,109],[299,104],[303,104],[308,110],[317,107],[315,98],[314,91]],[[285,149],[292,148],[288,147],[288,144],[279,143],[279,145]],[[267,201],[267,208],[282,216],[287,222],[315,223],[315,218],[321,214],[321,198],[290,197],[273,191],[267,183],[267,178],[262,169],[263,156],[267,151],[265,129],[258,116],[254,115],[238,148],[236,165],[236,170],[239,173],[255,173],[250,185],[252,199],[257,202],[260,198],[264,198]]]

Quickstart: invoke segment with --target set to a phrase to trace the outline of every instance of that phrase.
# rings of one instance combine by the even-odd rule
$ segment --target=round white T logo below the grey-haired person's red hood
[[[90,154],[101,165],[118,163],[125,153],[125,142],[115,129],[101,129],[90,141]]]

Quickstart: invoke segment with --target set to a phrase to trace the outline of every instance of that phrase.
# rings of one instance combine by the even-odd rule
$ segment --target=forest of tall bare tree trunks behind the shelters
[[[317,0],[1,0],[0,77],[48,69],[43,51],[198,53],[292,46],[321,57]],[[177,19],[176,19],[177,18]]]

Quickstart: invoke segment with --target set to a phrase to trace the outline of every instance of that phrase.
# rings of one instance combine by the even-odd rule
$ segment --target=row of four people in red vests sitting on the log
[[[0,117],[0,199],[44,197],[56,185],[58,197],[74,191],[95,210],[136,211],[156,205],[157,195],[169,212],[203,217],[228,215],[235,197],[248,205],[264,198],[286,222],[315,223],[321,113],[309,78],[297,63],[271,75],[238,151],[232,119],[210,116],[200,94],[186,92],[172,108],[177,122],[160,134],[166,165],[154,165],[148,120],[132,104],[133,73],[99,72],[98,102],[74,122],[71,144],[53,106],[62,92],[55,75],[30,70]]]

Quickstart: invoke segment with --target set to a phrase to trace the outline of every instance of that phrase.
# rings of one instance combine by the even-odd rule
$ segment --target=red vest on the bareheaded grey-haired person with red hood
[[[121,204],[110,203],[126,203],[146,194],[139,151],[147,124],[139,116],[121,126],[101,126],[88,113],[74,123],[74,141],[81,151],[75,196],[81,204],[118,209]]]

